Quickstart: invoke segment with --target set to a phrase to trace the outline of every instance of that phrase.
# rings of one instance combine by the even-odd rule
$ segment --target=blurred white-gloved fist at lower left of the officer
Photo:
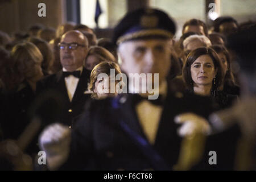
[[[39,147],[46,152],[47,166],[51,170],[59,168],[68,159],[71,130],[68,126],[54,123],[46,127],[39,137]]]

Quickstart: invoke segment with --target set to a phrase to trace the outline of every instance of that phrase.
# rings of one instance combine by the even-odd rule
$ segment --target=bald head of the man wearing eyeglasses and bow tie
[[[71,30],[61,36],[60,62],[67,71],[76,71],[82,67],[88,53],[88,39],[77,30]]]

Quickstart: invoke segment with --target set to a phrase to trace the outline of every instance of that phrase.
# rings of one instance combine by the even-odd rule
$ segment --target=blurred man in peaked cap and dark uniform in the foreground
[[[72,131],[59,124],[49,126],[39,139],[49,169],[172,169],[181,142],[175,116],[185,111],[203,112],[205,116],[210,112],[205,100],[181,93],[172,96],[167,89],[175,30],[174,21],[156,9],[139,9],[121,20],[113,38],[118,44],[121,68],[127,75],[158,73],[151,83],[159,83],[155,90],[159,97],[151,102],[148,92],[133,94],[142,90],[143,84],[139,88],[129,85],[129,94],[88,104]],[[192,125],[197,122],[193,116]],[[207,133],[208,124],[197,118],[200,131]],[[187,131],[183,128],[179,134],[186,135]]]

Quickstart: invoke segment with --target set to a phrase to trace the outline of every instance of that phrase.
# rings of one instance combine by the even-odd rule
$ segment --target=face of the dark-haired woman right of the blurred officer
[[[216,75],[213,60],[209,55],[199,56],[191,65],[191,77],[194,85],[212,84]]]

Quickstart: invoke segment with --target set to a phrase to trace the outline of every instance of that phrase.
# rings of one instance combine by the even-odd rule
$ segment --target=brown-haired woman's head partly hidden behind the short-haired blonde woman
[[[92,46],[85,58],[85,68],[92,71],[92,69],[102,61],[114,61],[115,57],[107,49],[100,46]]]

